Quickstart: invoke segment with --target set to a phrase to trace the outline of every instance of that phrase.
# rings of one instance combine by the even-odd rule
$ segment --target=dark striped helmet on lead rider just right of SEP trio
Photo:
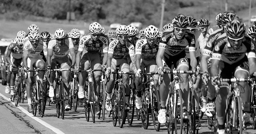
[[[179,14],[172,20],[173,27],[187,28],[188,20],[185,15]]]

